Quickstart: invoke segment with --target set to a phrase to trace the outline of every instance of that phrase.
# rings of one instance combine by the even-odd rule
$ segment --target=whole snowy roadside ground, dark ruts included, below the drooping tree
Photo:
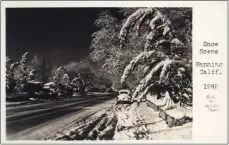
[[[168,127],[145,102],[118,105],[49,136],[51,140],[165,140],[192,139],[192,122]]]

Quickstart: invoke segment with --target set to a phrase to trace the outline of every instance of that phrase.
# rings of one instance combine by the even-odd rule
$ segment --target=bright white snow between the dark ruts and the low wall
[[[141,103],[139,107],[132,105],[129,110],[119,111],[118,125],[125,126],[121,131],[116,130],[115,140],[144,139],[191,139],[192,123],[170,128],[159,117],[158,112]]]

